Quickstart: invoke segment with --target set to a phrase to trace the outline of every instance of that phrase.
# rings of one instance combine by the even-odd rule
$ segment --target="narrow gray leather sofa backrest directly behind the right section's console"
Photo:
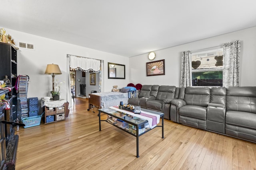
[[[225,87],[212,87],[210,96],[210,103],[226,105],[226,88]]]

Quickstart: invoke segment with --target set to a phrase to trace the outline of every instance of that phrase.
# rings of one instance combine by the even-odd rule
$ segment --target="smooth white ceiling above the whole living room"
[[[1,0],[0,5],[4,28],[125,57],[256,26],[256,0]]]

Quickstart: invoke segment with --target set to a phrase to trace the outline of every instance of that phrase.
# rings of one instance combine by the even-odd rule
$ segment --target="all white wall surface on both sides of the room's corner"
[[[254,75],[256,72],[256,27],[155,51],[156,58],[153,61],[165,59],[165,75],[162,76],[146,76],[146,63],[150,62],[148,54],[127,58],[8,28],[5,29],[7,34],[12,35],[16,43],[24,42],[35,45],[34,51],[21,48],[18,50],[18,74],[30,77],[28,98],[49,96],[52,89],[52,76],[44,74],[47,64],[58,64],[62,74],[56,75],[55,79],[58,79],[59,82],[67,82],[67,54],[104,60],[104,92],[110,92],[114,85],[122,88],[128,83],[174,85],[178,87],[180,86],[182,51],[196,51],[222,45],[222,43],[236,39],[240,39],[242,42],[240,86],[256,86],[256,76]],[[18,45],[16,44],[16,46]],[[125,64],[126,79],[108,79],[108,62]],[[87,84],[86,82],[86,87]],[[67,88],[65,85],[62,86],[61,90],[61,98],[66,99]],[[87,90],[86,94],[88,94]]]

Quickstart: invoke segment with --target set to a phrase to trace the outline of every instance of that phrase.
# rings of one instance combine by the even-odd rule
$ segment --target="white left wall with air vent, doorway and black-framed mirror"
[[[67,54],[104,60],[104,92],[110,92],[112,90],[112,86],[114,85],[124,87],[129,83],[128,70],[126,70],[126,79],[108,79],[107,76],[108,62],[125,64],[126,68],[129,68],[129,58],[127,57],[97,51],[94,49],[88,49],[61,41],[55,41],[8,28],[5,29],[6,33],[12,36],[17,47],[18,42],[32,43],[35,45],[35,50],[20,48],[20,50],[18,50],[17,57],[18,74],[28,75],[30,77],[30,82],[28,85],[28,98],[38,97],[38,99],[40,99],[44,96],[49,96],[50,90],[52,90],[52,76],[44,74],[47,64],[54,63],[60,66],[62,74],[56,75],[55,80],[58,79],[58,82],[68,81]],[[68,90],[68,92],[70,92],[70,90]],[[61,87],[61,98],[66,99],[66,93],[67,88],[64,84]]]

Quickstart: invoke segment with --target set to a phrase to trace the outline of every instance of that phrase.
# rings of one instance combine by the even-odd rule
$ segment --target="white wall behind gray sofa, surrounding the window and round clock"
[[[182,51],[197,51],[238,39],[241,40],[240,86],[256,86],[256,27],[155,51],[156,58],[153,61],[165,59],[165,75],[146,76],[146,63],[150,62],[148,54],[131,57],[130,82],[179,87]]]

